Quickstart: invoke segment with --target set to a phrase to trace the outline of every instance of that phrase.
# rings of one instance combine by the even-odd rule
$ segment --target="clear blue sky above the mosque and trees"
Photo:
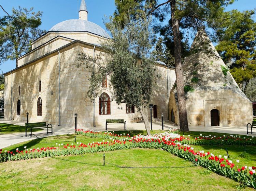
[[[80,1],[79,5],[80,5]],[[163,0],[160,0],[163,1]],[[115,11],[114,0],[86,0],[88,10],[88,20],[100,25],[105,29],[103,24],[104,15],[113,15]],[[34,7],[34,11],[43,11],[42,25],[41,28],[46,31],[49,30],[53,25],[58,22],[68,19],[78,19],[77,12],[77,0],[1,0],[0,5],[3,6],[5,11],[9,14],[12,12],[12,7],[17,8],[18,6],[30,8]],[[238,0],[232,5],[227,7],[227,11],[232,9],[238,9],[239,11],[250,10],[256,8],[256,0]],[[4,16],[5,13],[0,10],[0,17]],[[8,72],[16,67],[15,60],[10,60],[2,65],[0,69],[3,72]]]

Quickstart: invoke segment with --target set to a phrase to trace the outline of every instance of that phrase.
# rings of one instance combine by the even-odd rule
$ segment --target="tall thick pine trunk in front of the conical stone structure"
[[[187,121],[187,107],[184,92],[183,72],[181,63],[181,38],[180,38],[180,25],[177,18],[175,18],[176,0],[171,0],[171,20],[172,32],[174,40],[174,59],[175,59],[175,73],[176,73],[176,88],[178,95],[178,107],[180,117],[181,131],[188,131]]]

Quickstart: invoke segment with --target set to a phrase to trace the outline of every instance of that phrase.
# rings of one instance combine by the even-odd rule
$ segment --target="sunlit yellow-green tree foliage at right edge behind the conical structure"
[[[244,91],[242,84],[247,84],[256,76],[256,23],[253,19],[255,11],[232,10],[225,14],[229,19],[222,22],[223,30],[220,32],[220,42],[216,50],[224,63],[229,65],[230,73]]]

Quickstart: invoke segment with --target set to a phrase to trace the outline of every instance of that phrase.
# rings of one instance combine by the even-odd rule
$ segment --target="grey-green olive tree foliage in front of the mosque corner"
[[[150,54],[153,39],[150,22],[146,18],[139,21],[126,18],[121,25],[110,17],[105,25],[112,39],[100,42],[101,55],[93,59],[79,53],[77,67],[85,65],[91,72],[87,96],[92,101],[102,92],[102,80],[108,75],[112,99],[117,104],[125,102],[140,110],[150,102],[158,76]]]

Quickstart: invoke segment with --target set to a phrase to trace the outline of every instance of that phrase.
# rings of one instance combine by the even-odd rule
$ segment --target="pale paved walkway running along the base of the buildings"
[[[10,120],[3,120],[0,119],[0,123],[10,123],[15,125],[23,125],[26,123],[25,121],[10,121]],[[172,128],[180,128],[179,126],[173,125],[172,122],[164,121],[164,130],[172,129]],[[123,128],[123,125],[108,125],[109,131],[117,131]],[[114,127],[114,128],[111,128]],[[120,127],[118,129],[117,127]],[[79,128],[79,127],[77,127]],[[153,130],[161,130],[162,123],[161,122],[152,122]],[[105,126],[97,126],[97,127],[89,127],[83,129],[93,129],[94,131],[105,131]],[[127,130],[145,130],[144,123],[127,123]],[[228,134],[240,134],[246,135],[246,127],[222,127],[222,126],[209,126],[209,127],[198,127],[198,126],[191,126],[189,127],[189,131],[199,131],[199,132],[216,132],[216,133],[228,133]],[[48,136],[56,136],[56,135],[67,135],[74,133],[74,127],[67,127],[67,126],[58,126],[53,125],[53,135],[46,134],[46,129],[40,132],[32,132],[34,135],[32,137],[25,137],[24,133],[13,133],[13,134],[5,134],[0,135],[0,148],[4,148],[13,144],[17,144],[24,141],[29,141],[37,138],[43,138]],[[39,134],[44,133],[44,134]],[[35,136],[36,135],[36,136]]]

